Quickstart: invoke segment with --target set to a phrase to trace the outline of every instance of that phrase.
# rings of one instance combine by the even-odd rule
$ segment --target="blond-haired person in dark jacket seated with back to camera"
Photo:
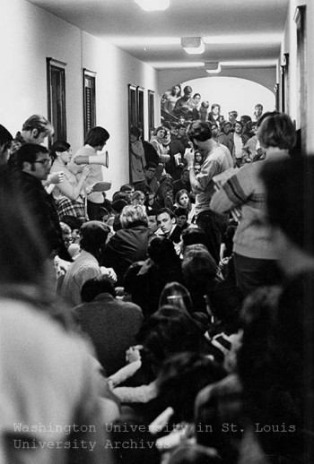
[[[151,233],[143,206],[127,205],[120,214],[122,228],[116,231],[103,247],[101,264],[117,273],[117,285],[123,285],[123,276],[133,262],[147,258]]]

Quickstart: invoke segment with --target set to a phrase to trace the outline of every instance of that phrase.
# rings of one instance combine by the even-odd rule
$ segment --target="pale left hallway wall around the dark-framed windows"
[[[147,125],[147,90],[156,92],[159,115],[158,73],[152,66],[25,0],[0,3],[0,56],[0,124],[13,135],[32,114],[47,116],[46,57],[67,64],[67,139],[74,150],[83,144],[82,69],[96,72],[97,125],[110,133],[109,197],[128,182],[127,84],[144,87]]]

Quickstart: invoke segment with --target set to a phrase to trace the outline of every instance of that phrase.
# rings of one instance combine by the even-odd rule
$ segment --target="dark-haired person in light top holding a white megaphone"
[[[108,168],[108,151],[101,153],[109,133],[103,127],[92,127],[85,137],[84,146],[76,151],[68,168],[76,175],[81,176],[84,165],[90,165],[89,176],[85,183],[87,195],[87,215],[88,219],[98,218],[100,208],[103,207],[104,197],[102,192],[109,190],[110,184],[103,182],[102,166]],[[98,154],[100,151],[100,154]]]

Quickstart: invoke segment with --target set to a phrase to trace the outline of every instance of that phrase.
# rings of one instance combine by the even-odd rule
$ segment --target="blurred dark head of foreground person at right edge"
[[[314,156],[270,160],[261,170],[271,225],[301,249],[314,253]]]

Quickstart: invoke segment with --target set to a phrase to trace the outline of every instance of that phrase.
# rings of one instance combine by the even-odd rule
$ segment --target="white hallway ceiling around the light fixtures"
[[[289,4],[289,0],[170,0],[164,12],[144,12],[134,0],[29,1],[156,69],[177,70],[211,61],[225,67],[274,67]],[[205,38],[204,54],[188,56],[180,47],[182,37]],[[161,45],[160,39],[168,43]]]

